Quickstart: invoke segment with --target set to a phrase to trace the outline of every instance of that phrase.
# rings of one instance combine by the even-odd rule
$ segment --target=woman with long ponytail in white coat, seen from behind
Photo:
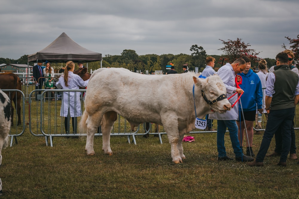
[[[73,73],[74,69],[74,62],[66,62],[64,74],[60,76],[56,83],[58,89],[79,89],[79,87],[87,86],[89,80],[83,81],[79,75]],[[80,94],[81,92],[63,92],[60,116],[65,117],[64,127],[66,133],[70,133],[71,118],[74,133],[77,133],[77,117],[82,115]]]

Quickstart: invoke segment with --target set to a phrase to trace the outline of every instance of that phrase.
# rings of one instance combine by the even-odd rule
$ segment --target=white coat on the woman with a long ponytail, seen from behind
[[[63,78],[64,75],[61,75],[56,82],[56,87],[58,89],[79,89],[79,86],[86,87],[89,82],[89,79],[83,81],[79,75],[76,75],[71,71],[68,71],[68,86],[65,86]],[[70,112],[70,117],[79,117],[82,115],[80,93],[81,92],[63,92],[63,103],[61,104],[60,116],[67,117],[68,110]]]

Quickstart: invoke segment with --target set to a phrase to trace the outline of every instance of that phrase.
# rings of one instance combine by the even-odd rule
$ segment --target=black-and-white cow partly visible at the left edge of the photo
[[[10,107],[9,97],[0,89],[0,166],[2,163],[1,150],[9,143]]]

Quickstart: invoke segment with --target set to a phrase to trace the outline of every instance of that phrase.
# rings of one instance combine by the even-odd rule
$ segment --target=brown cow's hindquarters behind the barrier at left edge
[[[22,91],[21,79],[12,72],[0,73],[0,89],[18,89]],[[20,92],[5,92],[10,97],[10,103],[15,104],[16,112],[18,114],[18,125],[21,122],[21,98]],[[13,105],[11,105],[11,126],[13,126]]]

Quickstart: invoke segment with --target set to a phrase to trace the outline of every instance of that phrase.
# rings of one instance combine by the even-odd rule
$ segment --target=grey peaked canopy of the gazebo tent
[[[28,55],[28,62],[36,62],[38,59],[43,62],[46,60],[49,62],[92,62],[101,61],[102,54],[83,48],[69,38],[65,33],[62,33],[57,39],[41,51]]]

